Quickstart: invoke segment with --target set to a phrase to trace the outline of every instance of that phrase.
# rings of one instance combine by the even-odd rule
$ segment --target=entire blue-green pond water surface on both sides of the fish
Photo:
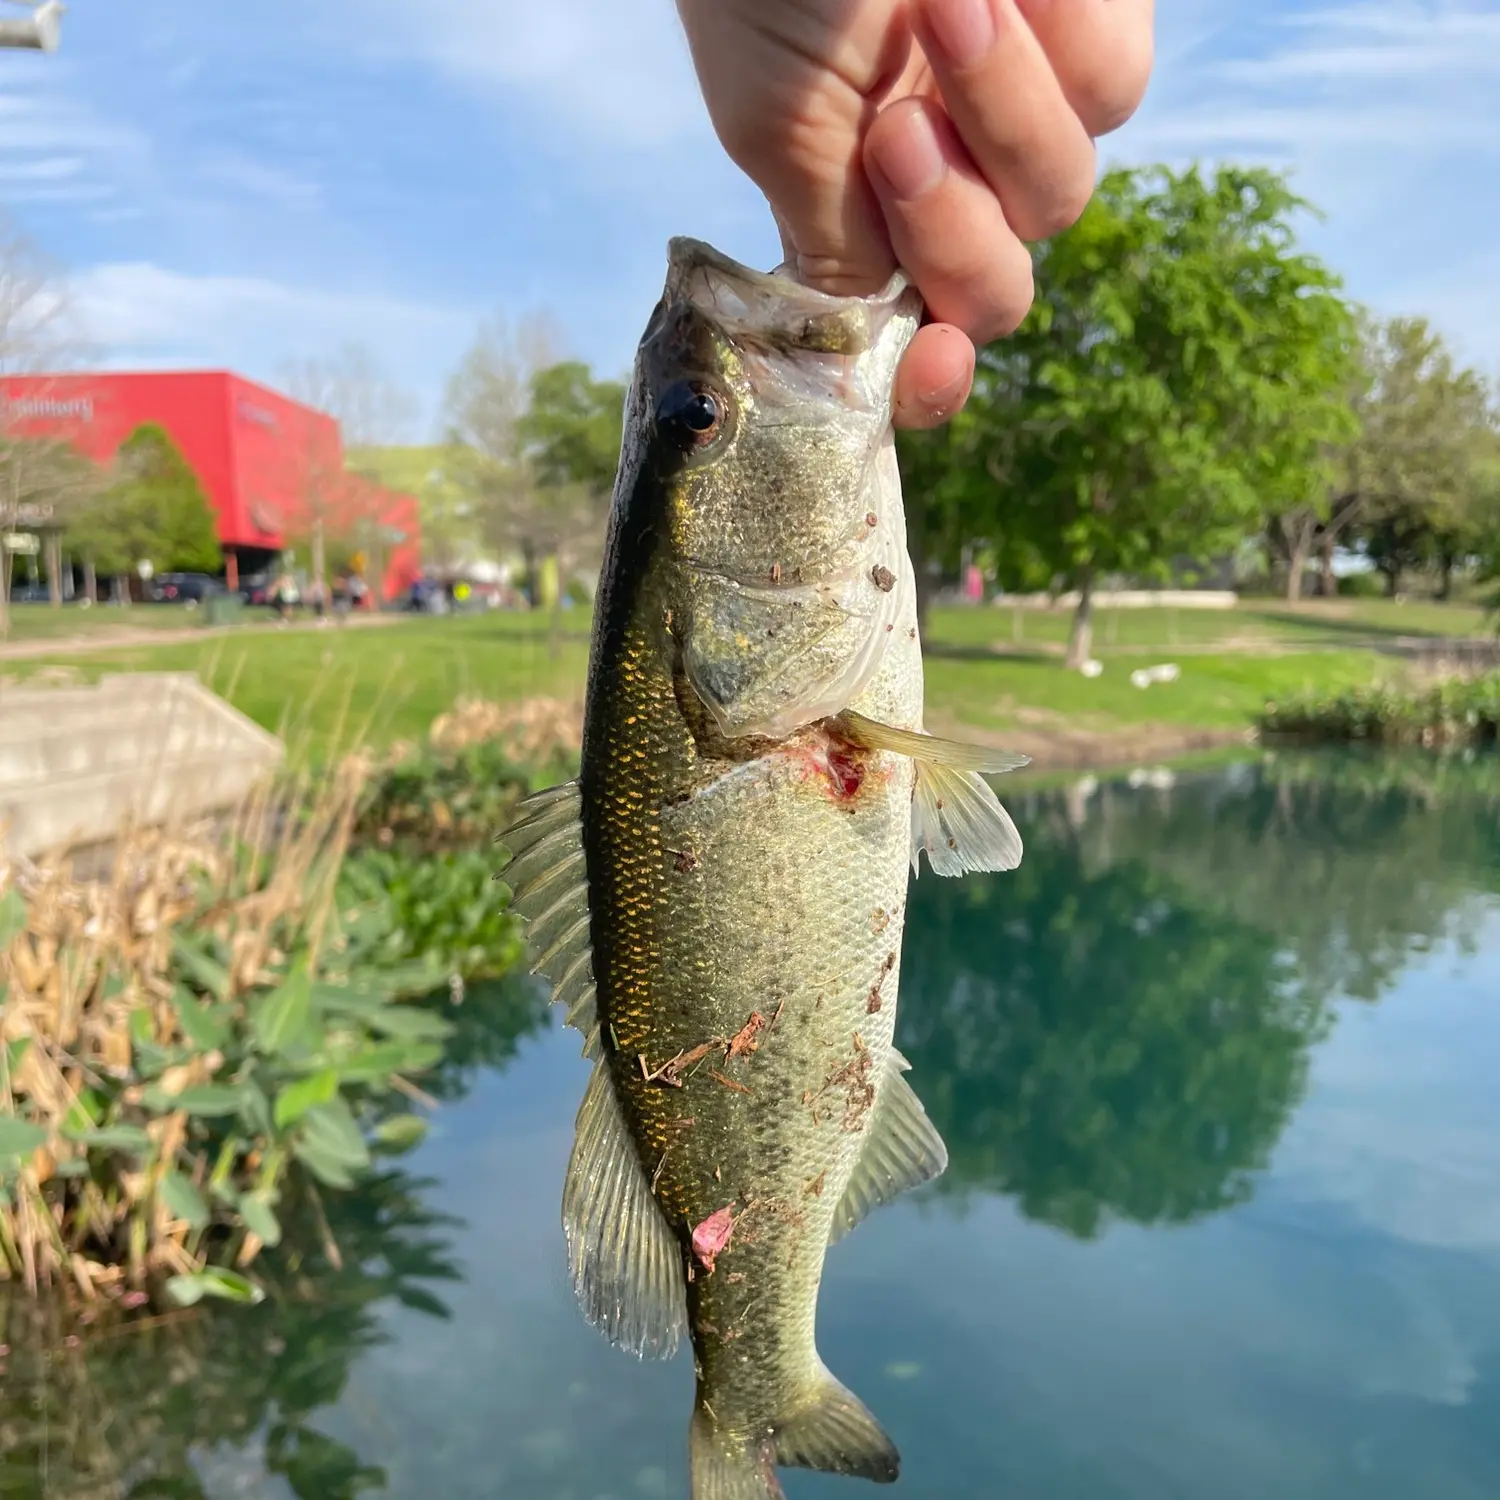
[[[1492,1500],[1500,765],[1011,806],[1018,872],[912,891],[898,1040],[950,1170],[824,1286],[902,1480],[789,1496]],[[471,1016],[342,1270],[14,1348],[0,1496],[686,1496],[690,1362],[615,1353],[564,1281],[578,1036],[520,982]]]

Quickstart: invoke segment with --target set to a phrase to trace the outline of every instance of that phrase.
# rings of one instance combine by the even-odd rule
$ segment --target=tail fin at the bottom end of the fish
[[[693,1500],[783,1500],[776,1466],[892,1484],[902,1455],[864,1402],[828,1371],[812,1401],[778,1420],[765,1442],[730,1437],[699,1406],[688,1430]]]

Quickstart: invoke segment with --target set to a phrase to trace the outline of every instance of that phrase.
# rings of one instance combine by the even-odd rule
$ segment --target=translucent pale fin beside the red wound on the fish
[[[962,744],[915,729],[897,729],[862,714],[840,716],[844,732],[872,750],[890,750],[916,762],[912,798],[912,873],[927,850],[933,874],[969,870],[1014,870],[1022,862],[1022,836],[994,789],[980,774],[1018,771],[1030,756],[987,746]]]

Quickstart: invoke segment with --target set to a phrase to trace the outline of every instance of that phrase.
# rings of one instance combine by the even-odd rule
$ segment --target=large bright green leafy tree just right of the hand
[[[1298,249],[1305,208],[1266,170],[1108,172],[1038,249],[1030,316],[981,352],[938,510],[1002,570],[1078,591],[1071,666],[1101,578],[1162,578],[1326,494],[1354,324]]]

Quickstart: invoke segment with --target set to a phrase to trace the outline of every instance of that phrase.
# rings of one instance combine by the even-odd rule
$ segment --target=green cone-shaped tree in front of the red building
[[[166,429],[142,423],[120,444],[116,464],[116,483],[69,526],[70,544],[106,574],[141,561],[159,573],[216,573],[213,507]]]

